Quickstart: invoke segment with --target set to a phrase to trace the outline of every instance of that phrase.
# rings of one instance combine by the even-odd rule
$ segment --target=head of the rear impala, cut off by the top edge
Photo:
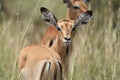
[[[79,16],[88,10],[85,3],[89,2],[89,0],[63,0],[63,2],[67,5],[72,15]]]

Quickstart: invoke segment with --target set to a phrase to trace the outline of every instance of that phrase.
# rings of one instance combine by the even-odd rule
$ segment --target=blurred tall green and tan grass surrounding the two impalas
[[[65,19],[62,0],[0,0],[0,80],[19,80],[20,50],[39,44],[47,25],[39,8]],[[70,80],[120,80],[120,0],[91,0],[93,19],[77,30]]]

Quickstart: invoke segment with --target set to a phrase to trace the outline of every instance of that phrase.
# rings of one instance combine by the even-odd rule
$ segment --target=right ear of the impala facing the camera
[[[81,25],[87,24],[91,18],[92,18],[92,11],[86,11],[85,13],[82,13],[75,21],[75,25],[73,28],[77,28]]]

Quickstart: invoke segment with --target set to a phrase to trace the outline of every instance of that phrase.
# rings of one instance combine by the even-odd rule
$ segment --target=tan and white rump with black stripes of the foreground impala
[[[23,56],[26,56],[26,61],[24,66],[21,67],[20,60]],[[60,69],[62,67],[58,63],[62,66],[61,58],[47,46],[28,46],[22,50],[19,56],[22,80],[54,80],[56,73],[59,74],[56,75],[56,78],[61,80],[62,73]]]

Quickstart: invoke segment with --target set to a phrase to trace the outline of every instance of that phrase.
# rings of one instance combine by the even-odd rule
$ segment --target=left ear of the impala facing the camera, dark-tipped
[[[45,7],[41,7],[40,8],[40,12],[42,14],[42,19],[53,26],[57,26],[57,18],[54,16],[53,13],[51,13],[47,8]]]

